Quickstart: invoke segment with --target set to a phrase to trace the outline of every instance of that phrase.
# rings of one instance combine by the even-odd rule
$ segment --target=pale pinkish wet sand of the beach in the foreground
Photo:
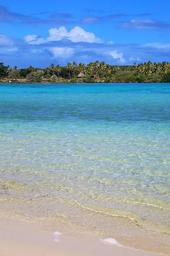
[[[59,242],[54,233],[39,230],[29,221],[0,219],[0,256],[158,256],[99,241],[98,237],[63,230]],[[132,245],[133,246],[133,245]]]

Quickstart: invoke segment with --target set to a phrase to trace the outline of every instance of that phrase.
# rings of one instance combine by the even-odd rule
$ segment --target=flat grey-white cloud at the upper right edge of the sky
[[[132,19],[130,21],[122,22],[121,27],[123,29],[170,29],[170,23],[152,20],[152,19]]]

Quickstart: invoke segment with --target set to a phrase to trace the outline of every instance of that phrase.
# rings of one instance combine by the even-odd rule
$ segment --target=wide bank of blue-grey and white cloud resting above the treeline
[[[0,59],[6,65],[20,68],[30,65],[43,68],[51,62],[65,65],[68,61],[87,64],[99,60],[112,65],[148,60],[162,62],[170,59],[170,44],[116,44],[102,41],[79,26],[71,30],[60,26],[50,29],[47,38],[26,35],[21,40],[0,34]]]

